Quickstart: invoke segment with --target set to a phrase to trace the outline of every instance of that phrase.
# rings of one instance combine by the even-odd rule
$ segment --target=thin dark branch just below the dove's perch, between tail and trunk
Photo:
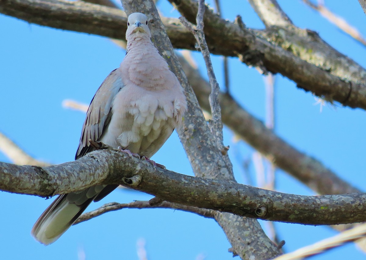
[[[186,205],[182,205],[182,204],[170,203],[168,201],[163,201],[160,204],[152,206],[152,205],[150,205],[149,201],[139,201],[139,200],[137,200],[137,201],[133,201],[133,202],[130,202],[130,203],[123,203],[123,204],[116,203],[116,202],[104,204],[100,208],[97,208],[93,211],[90,211],[90,212],[87,212],[87,213],[84,213],[83,215],[81,215],[78,218],[78,220],[76,220],[74,225],[79,224],[81,222],[84,222],[86,220],[95,218],[95,217],[100,216],[104,213],[111,212],[111,211],[116,211],[116,210],[124,209],[124,208],[137,208],[137,209],[169,208],[169,209],[178,209],[178,210],[182,210],[182,211],[195,213],[195,214],[203,216],[205,218],[213,218],[212,211],[209,210],[209,209],[195,208],[195,207],[190,207],[190,206],[186,206]]]

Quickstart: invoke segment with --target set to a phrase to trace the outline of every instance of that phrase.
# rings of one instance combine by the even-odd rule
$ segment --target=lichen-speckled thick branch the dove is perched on
[[[96,184],[119,184],[187,206],[239,216],[301,224],[366,220],[366,194],[300,196],[229,181],[203,179],[155,168],[117,151],[94,151],[79,160],[48,167],[0,163],[0,189],[52,196]]]

